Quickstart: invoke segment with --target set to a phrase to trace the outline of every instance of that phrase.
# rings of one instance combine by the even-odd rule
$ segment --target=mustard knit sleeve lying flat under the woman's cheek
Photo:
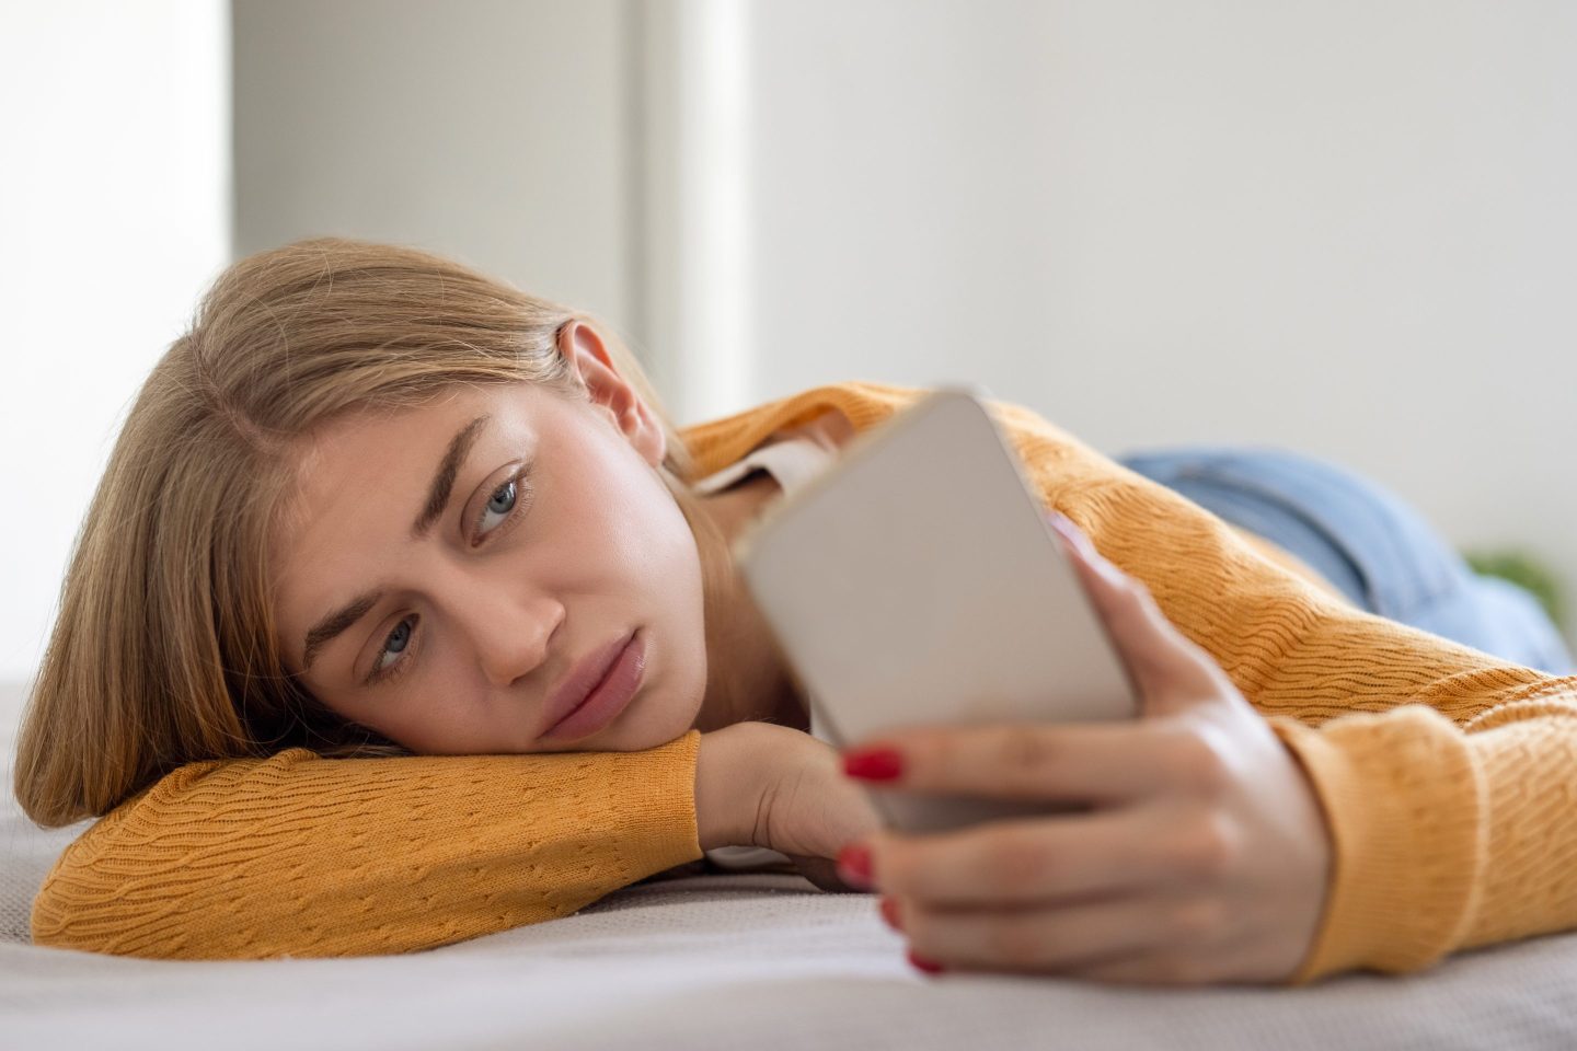
[[[431,949],[702,857],[700,733],[645,752],[192,763],[62,854],[33,941],[153,958]]]

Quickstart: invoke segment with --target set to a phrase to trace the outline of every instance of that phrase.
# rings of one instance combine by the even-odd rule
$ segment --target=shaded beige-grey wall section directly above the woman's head
[[[416,244],[629,328],[618,0],[235,0],[237,254]]]

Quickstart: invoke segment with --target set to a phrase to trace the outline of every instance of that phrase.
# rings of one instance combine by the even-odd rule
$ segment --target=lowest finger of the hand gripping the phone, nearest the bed
[[[1131,972],[1158,950],[1206,950],[1219,936],[1217,906],[1206,898],[1118,895],[1044,908],[935,909],[896,900],[910,950],[945,967],[1055,972]]]

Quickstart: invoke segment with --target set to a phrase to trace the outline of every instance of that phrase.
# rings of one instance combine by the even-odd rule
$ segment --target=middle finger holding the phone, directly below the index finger
[[[866,849],[871,881],[885,895],[930,908],[1001,908],[1197,886],[1214,843],[1194,832],[1162,823],[1162,811],[1123,808],[932,835],[878,832]]]

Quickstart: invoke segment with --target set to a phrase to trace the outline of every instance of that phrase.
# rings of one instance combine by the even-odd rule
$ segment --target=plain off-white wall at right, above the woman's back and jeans
[[[1577,600],[1577,5],[773,0],[749,41],[741,405],[967,378],[1107,452],[1285,444]]]

